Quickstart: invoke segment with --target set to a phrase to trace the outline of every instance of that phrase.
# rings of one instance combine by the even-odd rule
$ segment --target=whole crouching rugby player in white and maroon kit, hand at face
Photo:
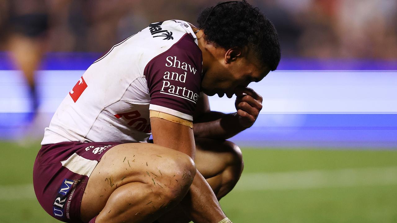
[[[258,117],[262,98],[247,85],[276,69],[280,47],[272,23],[245,1],[207,8],[198,23],[150,24],[67,94],[33,170],[50,215],[72,223],[231,222],[218,200],[243,161],[225,139]],[[236,94],[237,112],[210,111],[214,94]]]

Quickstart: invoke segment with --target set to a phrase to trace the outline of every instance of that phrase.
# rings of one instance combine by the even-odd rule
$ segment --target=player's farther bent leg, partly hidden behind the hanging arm
[[[240,179],[243,171],[243,158],[240,148],[227,140],[196,138],[195,164],[204,176],[218,200],[229,193]],[[178,205],[162,215],[155,223],[188,223],[189,217],[183,214]]]

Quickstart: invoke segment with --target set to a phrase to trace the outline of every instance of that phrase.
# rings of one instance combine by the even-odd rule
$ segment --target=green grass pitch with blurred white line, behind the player
[[[53,223],[37,202],[39,143],[0,142],[0,223]],[[221,200],[234,223],[395,223],[397,150],[243,148],[245,170]]]

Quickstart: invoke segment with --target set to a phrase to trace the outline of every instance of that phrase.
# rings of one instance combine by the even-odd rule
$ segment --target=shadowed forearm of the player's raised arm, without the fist
[[[247,129],[239,123],[237,113],[207,112],[193,124],[195,137],[227,139]]]

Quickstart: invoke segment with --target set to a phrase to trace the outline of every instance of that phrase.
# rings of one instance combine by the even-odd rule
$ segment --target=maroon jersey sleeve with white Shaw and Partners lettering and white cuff
[[[144,75],[150,93],[149,110],[193,121],[200,94],[202,53],[191,35],[185,34],[153,58]]]

